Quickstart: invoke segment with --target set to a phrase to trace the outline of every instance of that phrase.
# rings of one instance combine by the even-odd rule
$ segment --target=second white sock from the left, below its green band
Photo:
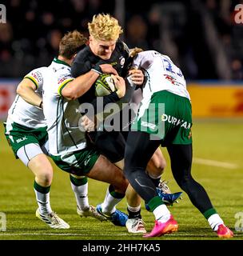
[[[71,182],[72,190],[76,198],[78,208],[80,210],[87,210],[90,208],[89,198],[88,198],[88,182],[81,186],[75,186]]]

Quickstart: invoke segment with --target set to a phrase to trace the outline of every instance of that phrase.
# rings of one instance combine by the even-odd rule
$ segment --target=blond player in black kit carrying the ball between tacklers
[[[123,30],[118,24],[118,20],[110,14],[98,14],[94,15],[92,22],[88,23],[90,32],[90,38],[88,45],[80,50],[74,58],[74,62],[71,66],[72,75],[78,77],[89,74],[91,71],[97,74],[113,73],[119,74],[124,77],[129,74],[129,78],[134,85],[139,86],[143,83],[144,75],[141,70],[129,70],[129,49],[122,42],[119,37]],[[107,72],[105,68],[110,66],[113,68],[113,72]],[[90,86],[90,81],[86,80],[83,87],[86,88],[87,84]],[[113,92],[110,95],[104,97],[103,106],[110,102],[118,102],[117,92]],[[95,86],[91,86],[79,98],[79,102],[90,102],[94,105],[94,110],[97,106],[97,98],[95,96]],[[95,113],[96,114],[96,113]],[[83,117],[83,123],[86,123],[86,116]],[[122,127],[121,127],[122,129]],[[116,166],[123,169],[124,166],[124,150],[125,150],[125,138],[121,132],[111,131],[94,131],[89,132],[88,135],[91,141],[94,142],[98,149],[104,154],[110,162],[113,162]],[[158,186],[161,178],[161,173],[165,167],[165,159],[161,154],[161,150],[153,155],[150,166],[150,177]],[[107,190],[107,196],[110,194],[110,187]],[[109,197],[107,197],[109,198]],[[126,227],[130,233],[145,233],[145,227],[141,220],[141,198],[133,190],[131,186],[126,191],[127,209],[129,212],[128,221]],[[99,213],[104,214],[109,219],[109,213],[107,212],[107,202],[97,206]],[[115,208],[112,210],[114,211]]]

